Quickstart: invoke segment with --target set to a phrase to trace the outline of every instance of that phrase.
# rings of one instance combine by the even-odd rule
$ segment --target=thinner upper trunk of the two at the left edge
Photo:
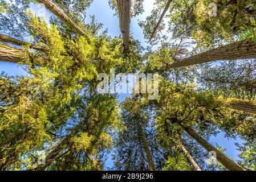
[[[0,41],[15,44],[17,46],[27,46],[30,44],[30,43],[24,42],[22,40],[14,39],[14,38],[11,38],[10,36],[3,35],[3,34],[0,34]],[[46,51],[47,50],[45,47],[37,46],[35,44],[30,44],[30,48],[36,49],[38,51]]]

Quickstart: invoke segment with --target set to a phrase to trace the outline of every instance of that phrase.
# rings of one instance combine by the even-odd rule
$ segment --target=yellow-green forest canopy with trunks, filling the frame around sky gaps
[[[26,72],[1,68],[0,170],[256,170],[256,1],[156,0],[137,20],[145,1],[108,0],[115,37],[88,21],[93,3],[0,0],[0,65]],[[112,70],[140,92],[100,93]],[[220,133],[243,141],[238,160],[210,144]]]

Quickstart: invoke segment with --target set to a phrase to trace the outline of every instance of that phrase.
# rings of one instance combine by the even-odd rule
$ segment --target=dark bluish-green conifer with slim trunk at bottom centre
[[[149,113],[143,110],[143,106],[136,98],[127,98],[122,108],[121,118],[127,129],[119,134],[117,141],[116,168],[154,171],[157,167],[155,162],[161,154],[157,141],[153,139],[155,132],[151,128]]]

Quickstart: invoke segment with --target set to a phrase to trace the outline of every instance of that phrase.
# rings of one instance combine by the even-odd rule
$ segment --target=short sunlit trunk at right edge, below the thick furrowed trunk
[[[256,101],[243,100],[237,98],[227,98],[227,106],[232,109],[246,111],[256,114]]]

